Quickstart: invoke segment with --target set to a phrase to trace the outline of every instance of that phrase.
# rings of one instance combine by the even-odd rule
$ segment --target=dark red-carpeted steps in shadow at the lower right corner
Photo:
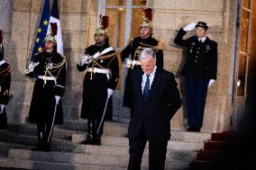
[[[238,131],[213,133],[189,164],[189,170],[255,169],[254,135]]]

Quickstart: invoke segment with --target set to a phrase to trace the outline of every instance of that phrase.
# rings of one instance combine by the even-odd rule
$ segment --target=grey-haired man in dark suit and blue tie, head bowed
[[[170,139],[169,121],[181,106],[181,99],[173,74],[156,66],[152,49],[143,49],[139,60],[142,67],[134,69],[129,76],[134,110],[128,128],[128,170],[141,169],[147,141],[149,169],[163,170]]]

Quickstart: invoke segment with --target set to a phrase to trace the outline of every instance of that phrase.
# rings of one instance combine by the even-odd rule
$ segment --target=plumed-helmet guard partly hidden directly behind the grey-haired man
[[[157,67],[163,67],[163,52],[161,47],[162,45],[160,45],[160,42],[158,40],[152,37],[152,9],[145,9],[142,16],[143,22],[139,29],[140,36],[133,38],[121,52],[121,59],[123,61],[123,64],[124,66],[128,67],[128,73],[125,78],[123,93],[123,106],[129,107],[131,109],[131,115],[133,114],[133,107],[131,106],[131,99],[129,95],[131,94],[131,92],[129,92],[129,80],[127,77],[130,75],[130,72],[133,70],[133,68],[140,66],[138,56],[142,49],[153,49],[156,54]]]

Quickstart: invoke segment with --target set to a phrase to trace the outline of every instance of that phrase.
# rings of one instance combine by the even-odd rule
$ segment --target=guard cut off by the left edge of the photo
[[[7,129],[7,116],[5,106],[9,101],[11,85],[11,67],[4,60],[2,30],[0,30],[0,130]]]

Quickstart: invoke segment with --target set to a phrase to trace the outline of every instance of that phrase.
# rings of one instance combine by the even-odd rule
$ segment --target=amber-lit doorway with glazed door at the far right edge
[[[251,98],[256,61],[256,3],[237,1],[237,45],[233,78],[233,112],[231,128],[237,130],[245,116],[246,100]]]

